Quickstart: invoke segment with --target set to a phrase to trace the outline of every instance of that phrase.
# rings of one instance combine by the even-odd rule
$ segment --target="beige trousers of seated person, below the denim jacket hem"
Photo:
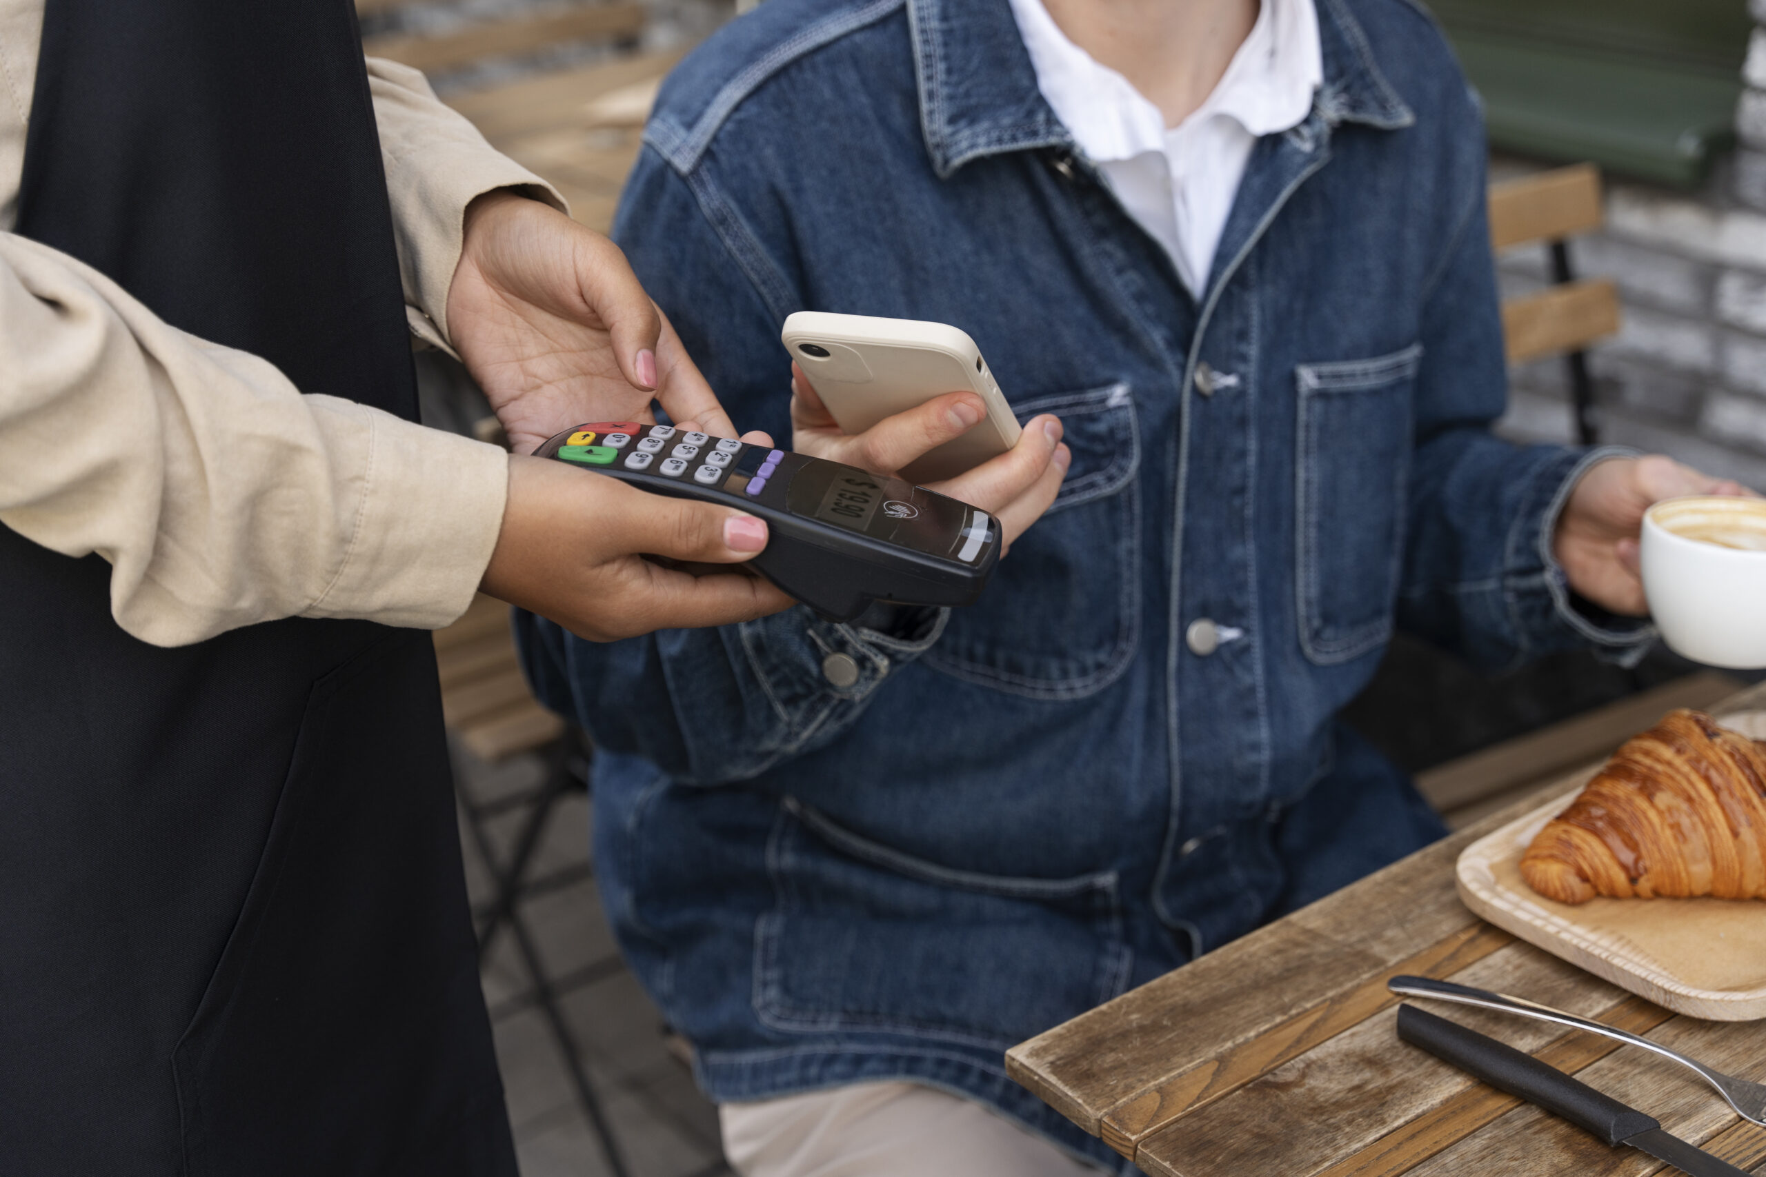
[[[853,1083],[717,1108],[742,1177],[1098,1177],[992,1108],[918,1083]]]

